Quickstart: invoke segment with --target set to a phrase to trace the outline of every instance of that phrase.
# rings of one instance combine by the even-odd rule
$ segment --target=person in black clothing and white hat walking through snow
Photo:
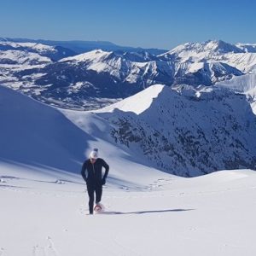
[[[102,177],[102,167],[105,168],[105,173]],[[90,158],[84,161],[82,166],[82,177],[87,185],[89,195],[89,212],[93,214],[94,210],[94,194],[96,194],[96,207],[102,208],[102,185],[106,183],[108,177],[108,164],[98,157],[98,149],[94,148],[90,152]]]

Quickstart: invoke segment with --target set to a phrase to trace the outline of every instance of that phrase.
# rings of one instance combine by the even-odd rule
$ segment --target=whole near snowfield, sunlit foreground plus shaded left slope
[[[96,113],[3,87],[0,104],[1,256],[255,255],[256,172],[175,177],[110,143]],[[91,216],[79,171],[92,147],[110,172]]]

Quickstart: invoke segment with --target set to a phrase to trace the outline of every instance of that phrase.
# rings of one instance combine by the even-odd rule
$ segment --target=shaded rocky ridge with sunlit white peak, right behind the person
[[[256,168],[256,119],[246,97],[230,90],[152,85],[95,113],[112,124],[103,132],[108,141],[136,152],[144,165],[184,177]],[[90,130],[88,115],[67,116]]]

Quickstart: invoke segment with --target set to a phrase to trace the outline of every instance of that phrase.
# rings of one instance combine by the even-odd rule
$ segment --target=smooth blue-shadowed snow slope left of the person
[[[92,139],[60,111],[0,86],[0,159],[75,172]],[[70,135],[72,134],[72,137]]]

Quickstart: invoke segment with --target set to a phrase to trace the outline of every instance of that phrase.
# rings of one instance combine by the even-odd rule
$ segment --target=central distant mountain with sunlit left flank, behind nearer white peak
[[[60,62],[80,66],[81,69],[95,71],[99,75],[106,74],[113,79],[113,83],[119,85],[134,84],[133,87],[137,91],[142,90],[144,85],[148,86],[160,81],[171,84],[172,80],[172,67],[146,52],[106,52],[99,49],[63,59]],[[116,93],[122,95],[124,90],[125,88]],[[131,95],[131,92],[127,95]]]

